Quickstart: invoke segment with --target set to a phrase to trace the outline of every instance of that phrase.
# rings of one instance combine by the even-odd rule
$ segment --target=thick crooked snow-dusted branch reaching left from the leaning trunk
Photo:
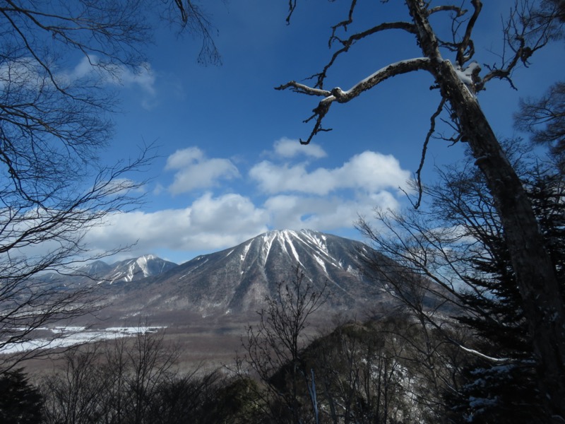
[[[318,106],[313,110],[314,114],[304,120],[304,122],[309,122],[311,119],[316,119],[316,124],[314,124],[314,129],[311,131],[308,139],[306,141],[302,141],[302,139],[300,140],[300,143],[308,144],[319,132],[331,131],[331,129],[324,129],[321,126],[321,121],[330,110],[330,106],[333,102],[337,101],[338,103],[347,103],[364,91],[377,86],[379,83],[388,78],[412,71],[429,70],[430,63],[431,61],[427,57],[417,57],[415,59],[398,61],[372,73],[370,76],[359,81],[355,84],[355,86],[352,86],[352,88],[346,91],[339,87],[335,87],[331,91],[321,90],[320,88],[312,88],[304,84],[297,83],[296,81],[290,81],[286,84],[275,87],[275,90],[286,90],[287,88],[290,88],[295,93],[323,96],[323,100],[321,100]]]

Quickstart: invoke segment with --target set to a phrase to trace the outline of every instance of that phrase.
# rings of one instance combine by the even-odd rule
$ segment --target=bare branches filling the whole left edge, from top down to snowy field
[[[157,13],[202,38],[199,61],[218,63],[211,24],[194,1],[157,9],[145,0],[0,5],[0,353],[100,306],[90,288],[70,290],[41,275],[124,248],[92,254],[83,240],[139,201],[143,181],[132,172],[143,170],[152,147],[112,166],[98,156],[112,139],[112,86],[125,71],[145,71],[141,47]],[[0,367],[43,352],[50,341],[0,355]]]

